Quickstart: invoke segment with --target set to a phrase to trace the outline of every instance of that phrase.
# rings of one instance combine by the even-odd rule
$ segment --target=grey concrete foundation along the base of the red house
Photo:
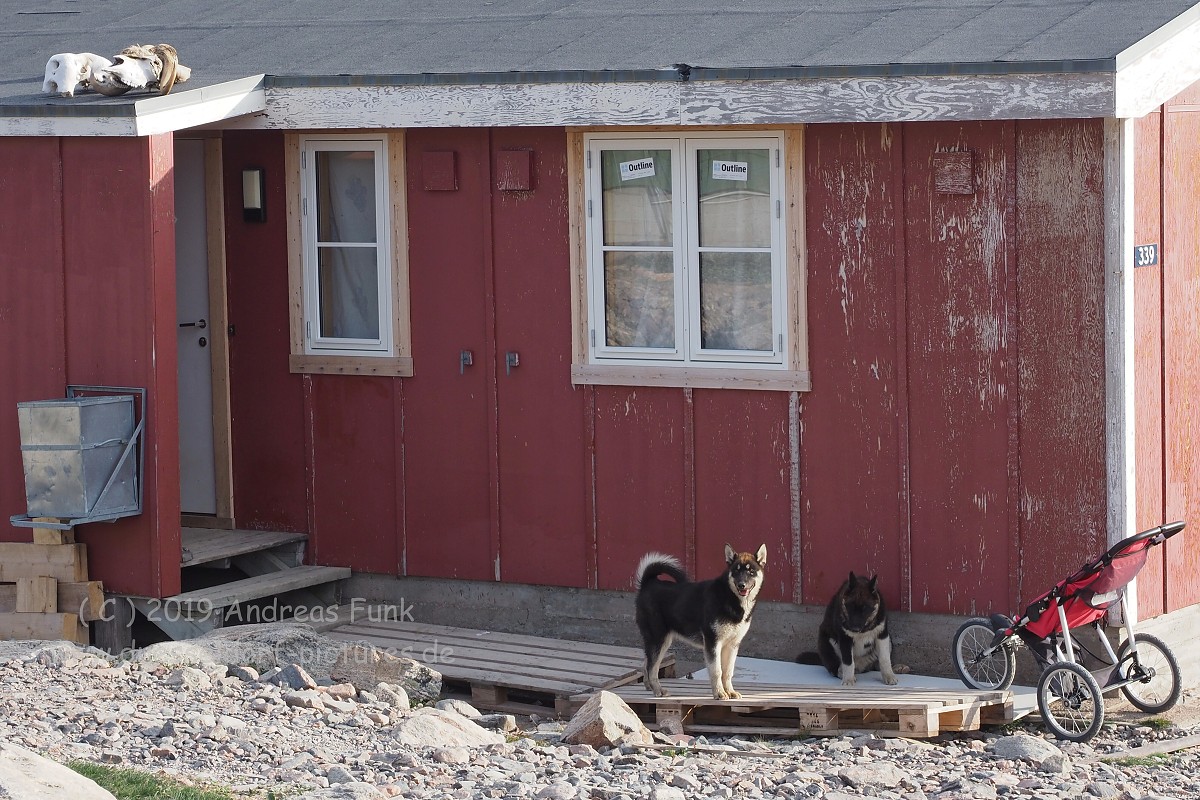
[[[342,602],[355,599],[364,604],[406,608],[416,622],[642,645],[634,622],[634,595],[628,591],[356,573],[346,583]],[[758,603],[754,625],[742,644],[742,655],[792,660],[803,650],[815,650],[823,615],[824,608],[818,606]],[[890,612],[893,662],[923,675],[955,678],[950,643],[964,619],[949,614]],[[1136,630],[1158,636],[1171,648],[1180,662],[1184,687],[1200,686],[1200,636],[1196,636],[1200,633],[1200,604],[1144,621]],[[1084,640],[1092,646],[1088,633],[1084,632]],[[686,645],[677,645],[676,655],[682,667],[703,663],[700,651]],[[1016,663],[1018,682],[1036,684],[1038,670],[1033,656],[1021,650]]]

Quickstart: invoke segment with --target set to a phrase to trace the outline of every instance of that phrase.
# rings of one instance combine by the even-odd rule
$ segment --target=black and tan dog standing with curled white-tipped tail
[[[659,666],[671,643],[679,639],[701,648],[719,700],[742,697],[733,691],[733,662],[746,631],[755,599],[762,588],[767,546],[736,553],[725,546],[725,572],[712,581],[691,581],[679,561],[648,553],[637,565],[637,628],[646,645],[646,685],[666,697]],[[667,579],[662,579],[662,578]]]

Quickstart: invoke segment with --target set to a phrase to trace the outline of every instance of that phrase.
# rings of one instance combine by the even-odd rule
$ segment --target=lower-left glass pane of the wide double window
[[[605,341],[608,347],[674,347],[672,253],[605,253]]]

